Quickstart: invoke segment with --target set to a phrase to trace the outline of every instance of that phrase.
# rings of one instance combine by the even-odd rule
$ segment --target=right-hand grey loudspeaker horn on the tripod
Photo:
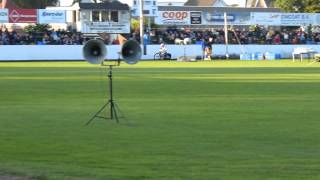
[[[127,64],[136,64],[142,55],[140,44],[135,40],[126,41],[121,48],[121,54]]]

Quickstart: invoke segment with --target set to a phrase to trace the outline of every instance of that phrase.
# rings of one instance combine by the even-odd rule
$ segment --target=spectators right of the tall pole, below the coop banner
[[[225,44],[224,29],[177,29],[151,30],[150,44],[197,44],[209,41],[211,44]],[[229,44],[320,44],[320,28],[264,28],[229,29]]]

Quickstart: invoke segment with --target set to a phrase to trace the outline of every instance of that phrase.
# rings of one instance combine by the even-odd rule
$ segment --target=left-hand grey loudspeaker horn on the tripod
[[[84,44],[82,54],[90,64],[101,64],[107,56],[107,49],[102,40],[91,39]]]

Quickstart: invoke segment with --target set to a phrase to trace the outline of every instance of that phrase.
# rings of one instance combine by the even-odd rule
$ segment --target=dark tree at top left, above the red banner
[[[59,0],[11,0],[19,8],[44,9],[47,6],[55,6]]]

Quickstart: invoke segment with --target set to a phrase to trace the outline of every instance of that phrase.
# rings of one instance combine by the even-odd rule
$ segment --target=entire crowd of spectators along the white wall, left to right
[[[225,44],[223,29],[153,29],[144,36],[145,44]],[[140,41],[139,34],[133,32],[132,39]],[[79,45],[86,38],[80,32],[46,30],[25,32],[0,28],[0,45]],[[117,44],[116,41],[106,42]],[[229,29],[229,44],[320,44],[320,28],[289,29],[264,28],[254,26],[249,29]]]

